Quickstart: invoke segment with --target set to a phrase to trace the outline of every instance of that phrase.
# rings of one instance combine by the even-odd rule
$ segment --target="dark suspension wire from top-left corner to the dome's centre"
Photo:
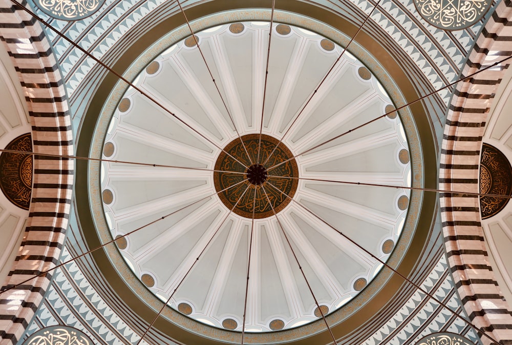
[[[211,145],[214,145],[216,148],[218,148],[219,150],[221,150],[222,152],[226,153],[228,156],[230,156],[231,158],[233,158],[234,160],[236,160],[238,163],[240,163],[241,165],[243,165],[245,168],[248,168],[245,164],[243,164],[240,160],[238,160],[237,158],[233,157],[231,154],[229,154],[228,152],[224,151],[223,148],[221,148],[220,146],[218,146],[213,140],[209,139],[208,137],[206,137],[206,135],[200,133],[198,130],[196,130],[194,127],[190,126],[189,124],[187,124],[185,122],[185,120],[181,119],[178,115],[176,115],[175,113],[173,113],[172,111],[170,111],[169,109],[165,108],[160,102],[158,102],[158,100],[156,98],[154,98],[153,96],[151,96],[150,94],[144,92],[142,89],[140,89],[138,86],[135,86],[132,82],[129,82],[126,78],[124,78],[121,74],[117,73],[116,71],[114,71],[112,68],[110,68],[109,66],[106,66],[104,63],[102,63],[97,57],[95,57],[93,54],[89,53],[87,50],[83,49],[82,47],[80,47],[77,43],[73,42],[73,40],[71,38],[68,38],[65,34],[61,33],[60,31],[58,31],[57,29],[55,29],[54,27],[52,27],[48,22],[46,22],[44,19],[40,18],[39,16],[37,16],[34,12],[32,12],[31,10],[29,10],[28,8],[24,7],[22,4],[18,3],[17,0],[11,0],[11,2],[13,4],[15,4],[16,6],[18,6],[19,8],[23,9],[25,12],[27,12],[28,14],[30,14],[31,16],[33,16],[35,19],[37,19],[37,21],[41,22],[42,24],[44,24],[48,29],[50,29],[51,31],[55,32],[58,36],[60,36],[62,39],[66,40],[68,43],[70,43],[73,47],[75,47],[76,49],[80,50],[82,53],[86,54],[88,57],[92,58],[95,62],[97,62],[100,66],[102,66],[103,68],[105,68],[106,70],[108,70],[109,72],[111,72],[112,74],[114,74],[116,77],[118,77],[120,80],[122,80],[124,83],[126,83],[127,85],[131,86],[132,88],[134,88],[135,90],[137,90],[138,92],[140,92],[140,94],[142,94],[143,96],[145,96],[147,99],[151,100],[151,102],[153,102],[154,104],[156,104],[159,108],[161,108],[163,111],[165,111],[166,113],[168,113],[169,115],[172,115],[174,118],[176,118],[178,121],[180,121],[180,123],[182,123],[184,126],[186,126],[187,128],[190,128],[191,130],[193,130],[195,133],[197,133],[199,136],[201,136],[203,139],[205,139],[206,141],[208,141],[208,143],[210,143]]]

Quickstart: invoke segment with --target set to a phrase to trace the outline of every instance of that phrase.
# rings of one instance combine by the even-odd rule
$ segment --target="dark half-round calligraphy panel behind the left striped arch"
[[[5,148],[32,152],[32,136],[26,133],[12,140]],[[0,188],[14,205],[29,209],[32,193],[32,155],[3,152],[0,155]]]

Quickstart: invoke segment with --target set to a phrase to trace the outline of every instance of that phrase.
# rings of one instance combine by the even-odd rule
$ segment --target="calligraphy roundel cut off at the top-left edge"
[[[36,0],[45,13],[65,20],[87,17],[98,10],[104,0]]]

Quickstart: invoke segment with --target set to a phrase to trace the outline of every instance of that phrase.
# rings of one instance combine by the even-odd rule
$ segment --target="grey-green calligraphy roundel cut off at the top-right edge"
[[[420,15],[430,24],[446,30],[461,30],[480,20],[490,0],[414,0]]]

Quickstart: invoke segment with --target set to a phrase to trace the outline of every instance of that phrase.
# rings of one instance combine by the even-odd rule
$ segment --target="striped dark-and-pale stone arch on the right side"
[[[512,54],[512,2],[504,0],[476,40],[462,75],[485,67],[489,51]],[[459,83],[444,128],[439,188],[479,192],[482,135],[489,109],[509,61]],[[479,197],[440,195],[446,253],[458,293],[471,321],[503,344],[512,344],[512,313],[489,265]],[[489,339],[482,337],[487,344]]]

